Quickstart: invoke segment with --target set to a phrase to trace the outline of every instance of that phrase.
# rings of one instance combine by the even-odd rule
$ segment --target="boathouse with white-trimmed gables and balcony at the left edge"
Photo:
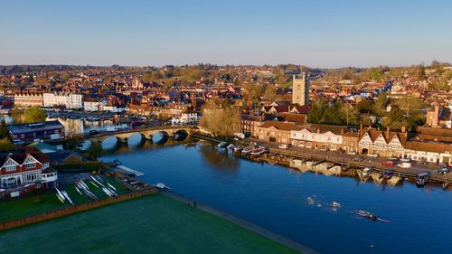
[[[58,174],[49,158],[36,149],[0,154],[0,195],[19,196],[24,189],[56,186]]]

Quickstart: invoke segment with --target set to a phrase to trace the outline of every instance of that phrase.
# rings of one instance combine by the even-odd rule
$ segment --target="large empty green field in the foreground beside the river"
[[[297,253],[164,195],[0,232],[0,253]]]

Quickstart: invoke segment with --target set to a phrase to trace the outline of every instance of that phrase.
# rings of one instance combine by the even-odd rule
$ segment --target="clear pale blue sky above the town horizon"
[[[0,64],[452,61],[449,0],[1,0]]]

